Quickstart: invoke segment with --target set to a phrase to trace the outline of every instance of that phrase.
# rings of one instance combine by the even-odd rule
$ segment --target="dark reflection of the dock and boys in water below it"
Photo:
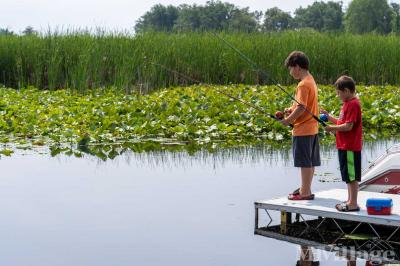
[[[289,226],[285,234],[279,232],[280,226],[260,228],[255,231],[255,234],[277,241],[298,244],[297,265],[319,265],[320,263],[328,265],[330,261],[336,261],[337,265],[345,265],[342,262],[347,262],[347,265],[399,263],[399,236],[393,235],[395,239],[392,237],[390,241],[385,240],[393,233],[393,228],[377,226],[375,229],[381,234],[381,238],[378,238],[373,235],[368,226],[359,228],[362,234],[350,233],[349,227],[352,229],[357,223],[343,220],[336,220],[336,222],[343,226],[344,231],[348,234],[339,232],[334,226],[314,229],[320,221],[320,219],[309,220],[311,227],[308,229],[304,227],[304,224],[301,226],[301,222],[296,222]],[[365,260],[365,264],[362,263],[362,260]]]

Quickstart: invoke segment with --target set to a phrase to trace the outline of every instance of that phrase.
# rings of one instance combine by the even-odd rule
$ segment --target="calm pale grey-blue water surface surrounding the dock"
[[[364,166],[392,144],[366,144]],[[322,157],[314,191],[345,188],[320,182],[339,177],[334,146]],[[107,162],[18,152],[0,167],[0,265],[296,265],[299,256],[297,245],[253,234],[253,202],[299,185],[287,150],[131,153]],[[346,265],[321,256],[321,265]]]

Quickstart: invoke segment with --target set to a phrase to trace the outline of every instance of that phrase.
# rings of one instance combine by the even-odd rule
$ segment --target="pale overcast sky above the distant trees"
[[[299,6],[312,4],[314,0],[229,0],[239,7],[265,11],[279,7],[293,12]],[[343,0],[346,7],[350,0]],[[397,1],[396,1],[397,2]],[[135,21],[155,4],[203,5],[206,1],[178,0],[1,0],[0,28],[21,32],[26,26],[37,30],[64,28],[96,28],[132,31]]]

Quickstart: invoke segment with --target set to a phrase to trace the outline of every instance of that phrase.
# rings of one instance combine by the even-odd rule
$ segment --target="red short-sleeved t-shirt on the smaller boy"
[[[344,102],[340,110],[337,125],[354,123],[350,131],[336,131],[336,147],[338,150],[361,151],[362,148],[362,119],[361,104],[354,97]]]

